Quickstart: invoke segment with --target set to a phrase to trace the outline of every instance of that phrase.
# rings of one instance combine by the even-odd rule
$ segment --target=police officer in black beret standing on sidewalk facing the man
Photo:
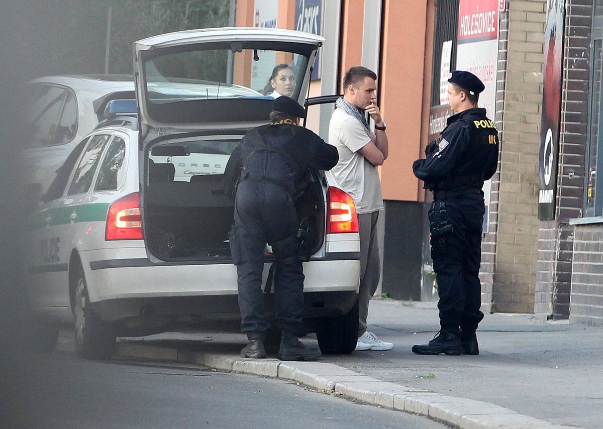
[[[429,209],[431,257],[438,283],[440,332],[427,344],[412,346],[417,354],[479,354],[475,331],[481,306],[484,180],[498,163],[499,139],[494,122],[478,108],[484,84],[466,71],[448,80],[448,101],[456,112],[441,139],[429,143],[426,159],[412,164],[415,176],[433,191]]]

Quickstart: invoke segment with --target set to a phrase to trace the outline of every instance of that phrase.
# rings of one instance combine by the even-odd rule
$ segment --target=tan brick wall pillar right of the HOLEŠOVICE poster
[[[508,2],[494,310],[534,311],[545,0]]]

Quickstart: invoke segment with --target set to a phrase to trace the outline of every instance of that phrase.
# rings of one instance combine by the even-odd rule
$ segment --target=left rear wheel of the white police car
[[[109,359],[115,351],[115,331],[93,312],[81,266],[74,278],[75,349],[84,359]]]

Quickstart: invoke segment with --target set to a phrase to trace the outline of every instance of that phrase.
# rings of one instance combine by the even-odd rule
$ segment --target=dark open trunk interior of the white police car
[[[229,231],[235,201],[224,169],[240,136],[193,137],[162,142],[145,151],[142,214],[148,252],[165,261],[231,263]],[[324,192],[320,172],[297,196],[301,251],[308,258],[324,240]]]

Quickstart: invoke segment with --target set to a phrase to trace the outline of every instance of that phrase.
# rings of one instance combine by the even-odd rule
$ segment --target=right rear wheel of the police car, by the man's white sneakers
[[[316,325],[318,346],[323,354],[350,354],[358,341],[358,300],[349,313],[319,319]]]

